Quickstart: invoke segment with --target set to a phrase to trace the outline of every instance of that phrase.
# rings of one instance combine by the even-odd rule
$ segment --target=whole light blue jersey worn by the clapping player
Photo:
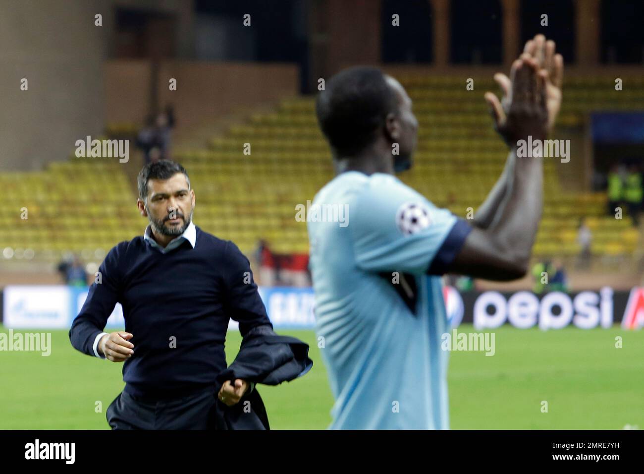
[[[469,230],[392,175],[341,173],[317,193],[308,236],[330,428],[449,428],[439,275]]]

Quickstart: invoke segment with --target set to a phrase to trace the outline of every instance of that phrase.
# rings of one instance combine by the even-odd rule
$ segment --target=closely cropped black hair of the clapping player
[[[338,152],[355,153],[374,143],[375,132],[397,110],[395,92],[378,68],[356,66],[329,79],[317,95],[317,122]]]

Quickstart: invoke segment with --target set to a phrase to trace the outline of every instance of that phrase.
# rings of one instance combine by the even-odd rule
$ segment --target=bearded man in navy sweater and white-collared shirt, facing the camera
[[[70,329],[77,350],[125,362],[125,388],[106,416],[113,429],[213,428],[215,393],[232,406],[253,390],[216,382],[226,365],[229,319],[242,336],[272,325],[235,244],[192,222],[194,190],[184,167],[160,160],[138,174],[145,235],[113,247]],[[125,331],[104,332],[120,302]]]

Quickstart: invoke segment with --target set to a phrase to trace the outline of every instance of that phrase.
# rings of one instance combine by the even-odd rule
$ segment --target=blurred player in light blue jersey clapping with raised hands
[[[542,158],[518,141],[545,139],[561,103],[563,60],[542,35],[488,92],[510,148],[502,177],[471,223],[394,177],[412,165],[417,120],[393,77],[351,68],[317,97],[337,176],[317,193],[308,235],[317,335],[336,400],[330,428],[449,428],[449,331],[440,275],[523,277],[542,212]],[[455,190],[458,192],[458,190]],[[345,211],[343,225],[329,215]],[[327,219],[324,216],[327,216]]]

